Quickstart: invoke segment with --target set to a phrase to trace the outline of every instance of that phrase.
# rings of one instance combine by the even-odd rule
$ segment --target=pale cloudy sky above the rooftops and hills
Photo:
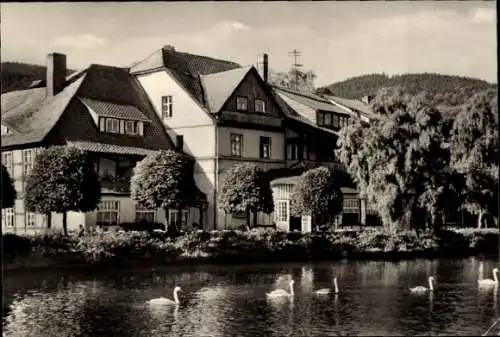
[[[129,66],[164,45],[287,71],[322,86],[350,77],[433,72],[497,82],[494,1],[2,3],[2,62]]]

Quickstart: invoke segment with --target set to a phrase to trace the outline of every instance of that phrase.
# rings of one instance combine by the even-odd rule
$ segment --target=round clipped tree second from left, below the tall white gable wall
[[[194,159],[171,150],[160,150],[148,155],[134,168],[131,179],[131,197],[147,208],[182,209],[196,202],[193,180]],[[168,226],[170,235],[177,228]]]

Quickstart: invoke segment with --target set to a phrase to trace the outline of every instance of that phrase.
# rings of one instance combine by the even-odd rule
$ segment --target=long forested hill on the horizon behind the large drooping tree
[[[345,98],[360,98],[364,95],[374,95],[384,87],[400,86],[408,94],[417,94],[426,91],[432,96],[443,96],[447,100],[451,96],[469,97],[473,93],[496,88],[497,84],[491,84],[483,80],[450,76],[440,74],[403,74],[388,76],[385,74],[371,74],[357,76],[342,82],[330,84],[324,88],[318,89],[326,94]],[[458,98],[458,97],[455,97]],[[458,103],[458,102],[449,102]]]

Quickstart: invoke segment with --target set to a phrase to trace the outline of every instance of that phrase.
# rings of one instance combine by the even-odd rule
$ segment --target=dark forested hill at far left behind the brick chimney
[[[71,74],[74,70],[68,70]],[[35,80],[45,80],[45,66],[18,62],[1,63],[2,94],[13,90],[27,89]]]

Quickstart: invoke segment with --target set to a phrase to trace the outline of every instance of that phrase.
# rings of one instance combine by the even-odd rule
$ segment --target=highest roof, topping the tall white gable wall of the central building
[[[134,64],[130,68],[130,72],[140,74],[167,69],[195,100],[208,108],[204,99],[200,75],[220,73],[237,68],[241,68],[241,66],[235,62],[178,52],[173,48],[162,48],[143,61]]]

